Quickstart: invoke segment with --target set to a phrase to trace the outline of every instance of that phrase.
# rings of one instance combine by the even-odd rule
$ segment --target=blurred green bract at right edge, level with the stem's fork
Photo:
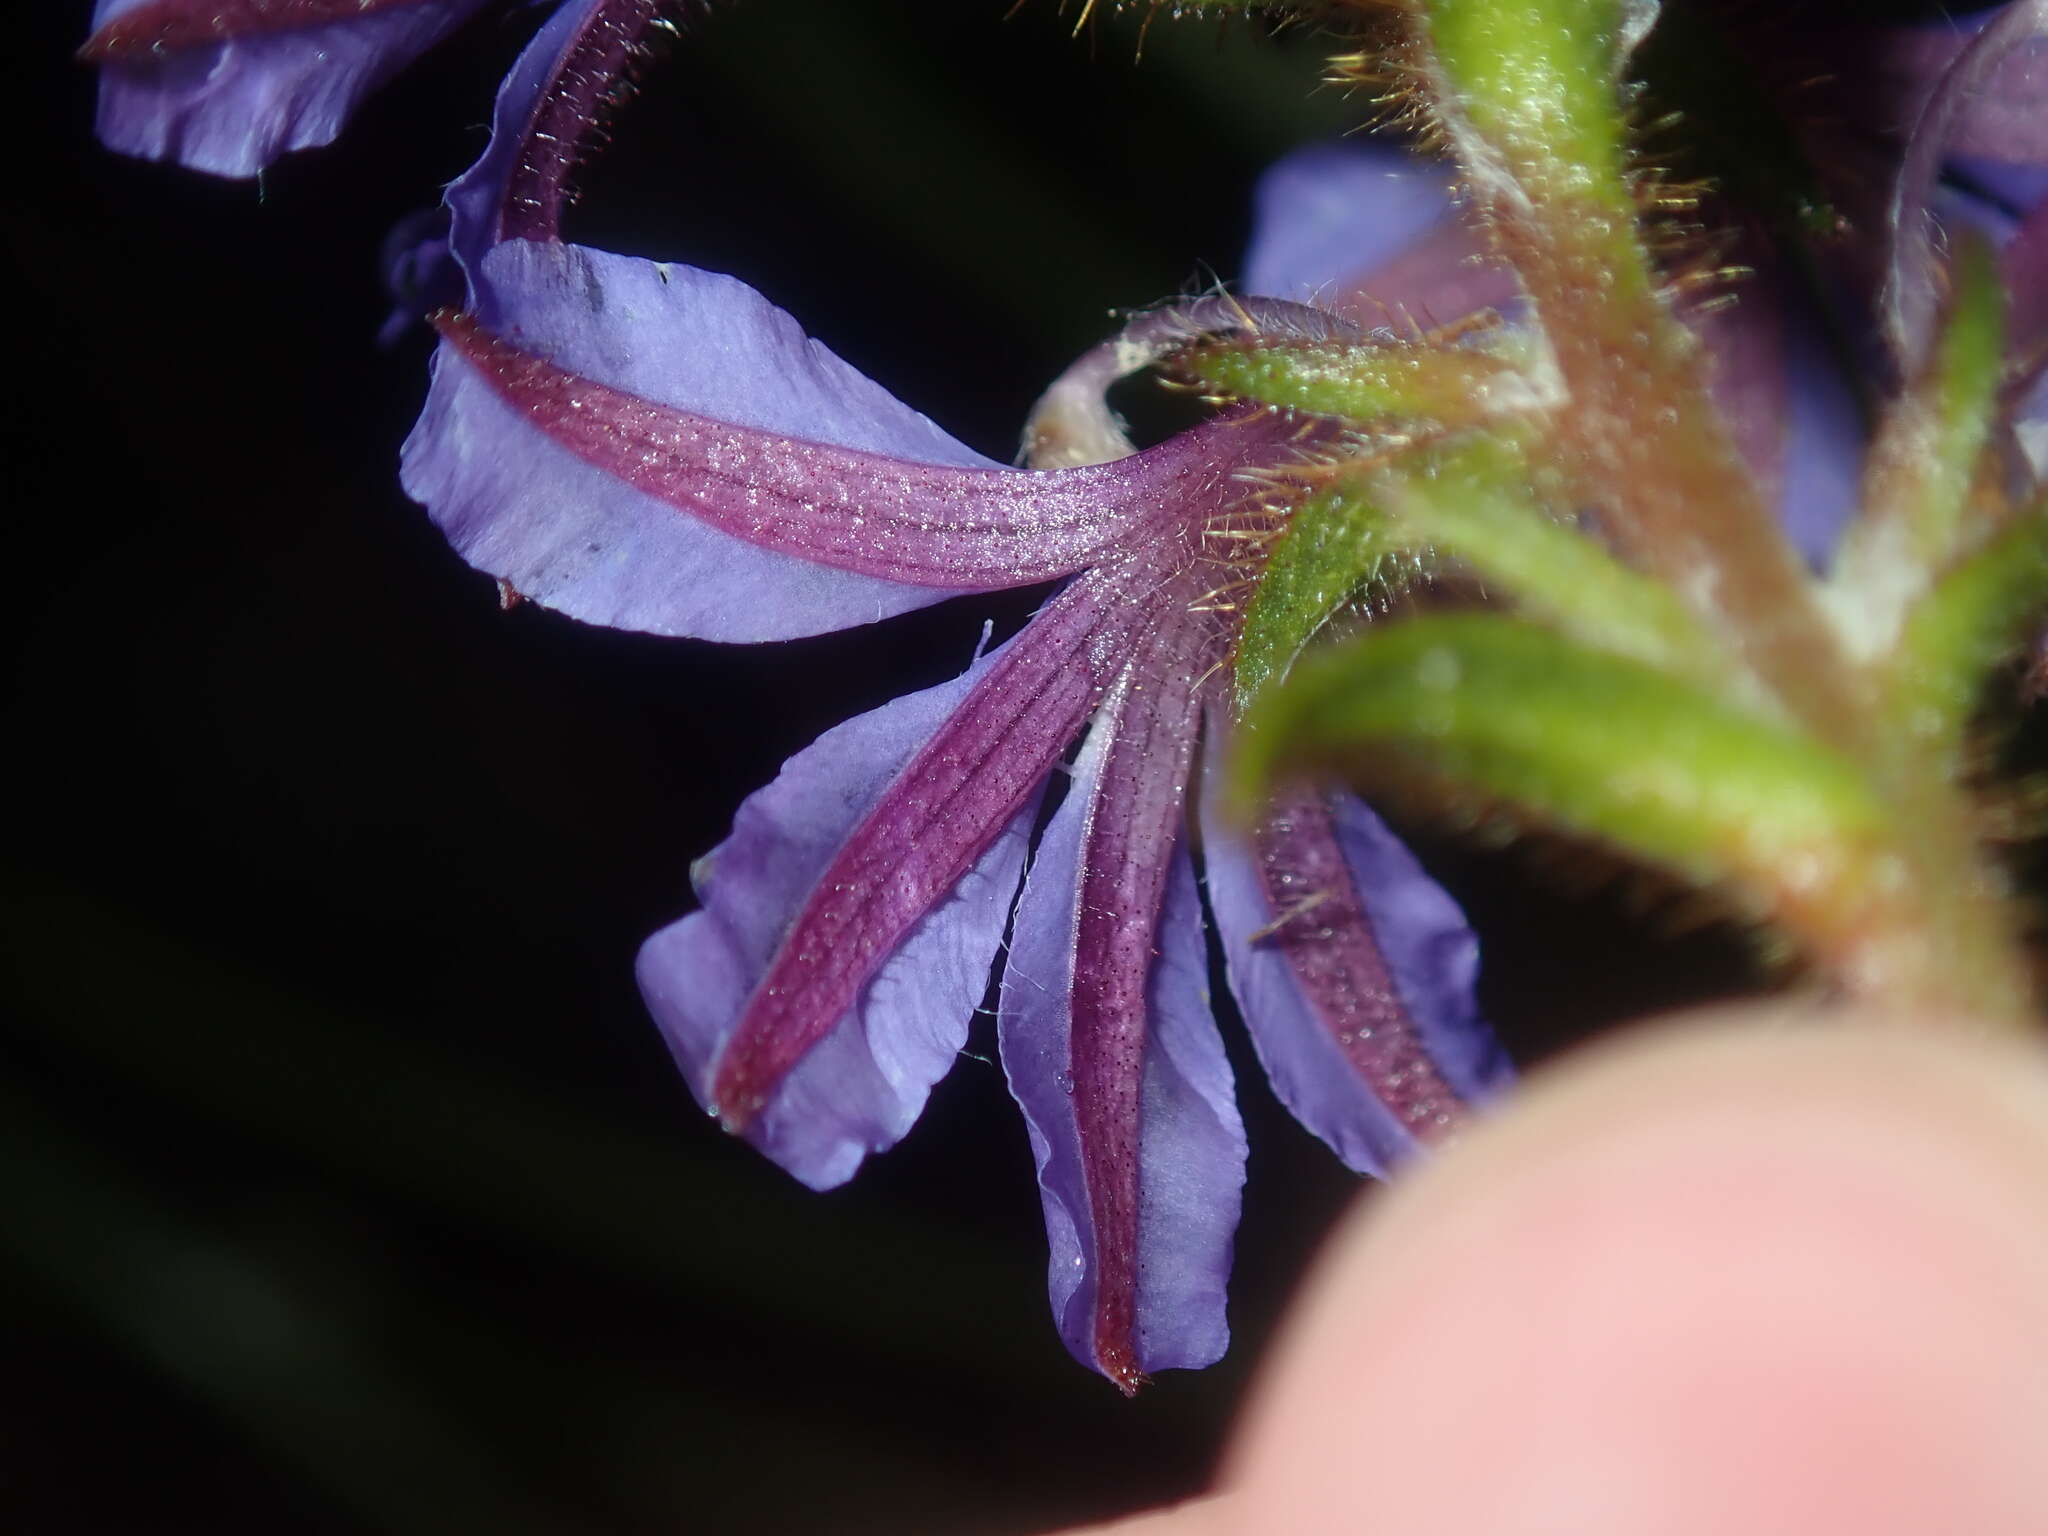
[[[1954,752],[1985,680],[2048,610],[2048,502],[1954,565],[1907,616],[1890,705],[1917,739]]]

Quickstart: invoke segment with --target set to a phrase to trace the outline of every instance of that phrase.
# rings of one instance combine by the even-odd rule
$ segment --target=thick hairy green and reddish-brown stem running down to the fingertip
[[[1636,225],[1614,0],[1425,0],[1438,117],[1548,338],[1559,469],[1616,549],[1669,584],[1890,807],[1866,893],[1778,870],[1788,928],[1855,995],[2032,1022],[2011,901],[1944,762],[1886,729],[1708,395]]]

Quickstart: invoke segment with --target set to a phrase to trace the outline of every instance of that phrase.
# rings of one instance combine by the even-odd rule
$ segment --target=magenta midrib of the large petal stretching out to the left
[[[436,326],[500,399],[584,463],[764,549],[915,586],[999,590],[1069,575],[1139,524],[1169,518],[1186,481],[1227,463],[1221,449],[1233,444],[1221,434],[1239,430],[1196,428],[1085,469],[922,465],[659,406],[520,352],[467,315]],[[745,457],[745,473],[719,469],[721,455]]]

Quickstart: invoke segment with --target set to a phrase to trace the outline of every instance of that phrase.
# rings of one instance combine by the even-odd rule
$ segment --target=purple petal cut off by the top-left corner
[[[356,104],[485,0],[100,0],[100,139],[254,176],[328,143]]]

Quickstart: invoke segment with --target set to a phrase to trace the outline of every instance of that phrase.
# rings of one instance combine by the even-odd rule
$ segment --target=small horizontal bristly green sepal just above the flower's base
[[[1417,342],[1251,338],[1190,348],[1171,367],[1212,395],[1358,426],[1454,428],[1544,403],[1518,358]]]

